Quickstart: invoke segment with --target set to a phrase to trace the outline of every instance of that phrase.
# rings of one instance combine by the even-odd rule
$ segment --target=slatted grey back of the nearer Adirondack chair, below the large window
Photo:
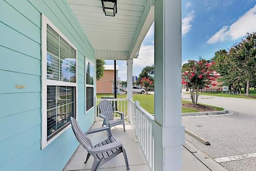
[[[91,140],[83,134],[75,118],[71,117],[71,125],[78,142],[86,149],[92,149],[93,145]]]

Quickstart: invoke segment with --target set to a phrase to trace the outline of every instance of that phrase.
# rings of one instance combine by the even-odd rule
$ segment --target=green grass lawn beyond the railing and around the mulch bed
[[[97,98],[100,99],[102,96],[113,96],[114,94],[97,94]],[[118,94],[117,98],[126,98],[126,94]],[[152,94],[133,94],[133,100],[139,101],[140,106],[147,110],[149,113],[154,113],[154,95]],[[182,100],[182,103],[191,103],[189,101]],[[205,105],[209,106],[209,105]],[[216,110],[223,110],[221,107],[210,106],[215,108]],[[182,107],[182,112],[198,112],[198,110],[189,108],[189,107]]]

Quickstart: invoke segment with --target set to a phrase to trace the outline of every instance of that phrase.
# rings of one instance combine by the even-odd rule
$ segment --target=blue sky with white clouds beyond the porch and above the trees
[[[182,63],[208,60],[220,49],[228,50],[249,32],[256,32],[256,0],[183,0]],[[114,64],[105,60],[106,64]],[[126,81],[126,61],[117,61],[118,77]],[[154,23],[142,42],[133,75],[154,65]]]

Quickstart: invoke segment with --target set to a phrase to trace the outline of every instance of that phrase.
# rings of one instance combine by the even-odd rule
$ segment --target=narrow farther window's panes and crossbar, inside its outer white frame
[[[86,61],[86,110],[94,106],[94,66]]]

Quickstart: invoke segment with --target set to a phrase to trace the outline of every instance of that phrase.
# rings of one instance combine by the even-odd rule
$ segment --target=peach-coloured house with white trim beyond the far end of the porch
[[[104,76],[96,83],[96,93],[114,93],[114,65],[104,65],[104,68]],[[116,72],[117,87],[119,87],[118,65]],[[119,93],[119,88],[117,88],[117,93]]]

